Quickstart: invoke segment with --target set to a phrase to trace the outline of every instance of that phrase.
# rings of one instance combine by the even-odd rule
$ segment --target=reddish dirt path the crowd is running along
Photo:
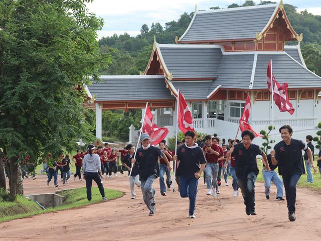
[[[59,188],[85,186],[73,181]],[[46,185],[45,176],[25,179],[25,194],[54,192]],[[0,223],[0,240],[321,240],[321,195],[306,189],[297,190],[296,221],[287,219],[286,201],[275,200],[272,186],[270,200],[266,200],[264,186],[256,183],[257,216],[247,216],[241,195],[232,197],[231,186],[220,187],[217,198],[206,196],[203,180],[199,183],[196,219],[189,219],[188,199],[176,191],[168,196],[157,190],[157,208],[154,216],[142,201],[130,199],[127,175],[106,179],[105,188],[126,193],[122,198],[83,208],[41,214],[29,218]],[[272,184],[273,185],[273,184]]]

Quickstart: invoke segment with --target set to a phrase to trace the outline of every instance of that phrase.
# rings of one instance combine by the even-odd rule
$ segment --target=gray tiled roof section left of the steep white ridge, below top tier
[[[254,54],[223,55],[213,87],[222,85],[221,88],[248,89],[253,60]]]

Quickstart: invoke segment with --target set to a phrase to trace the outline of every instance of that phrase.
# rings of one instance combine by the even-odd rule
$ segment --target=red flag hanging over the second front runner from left
[[[179,128],[183,133],[186,133],[187,131],[193,131],[194,126],[193,126],[193,118],[192,118],[192,113],[187,105],[183,95],[181,94],[181,91],[179,91],[179,117],[178,117],[178,123],[179,123]]]

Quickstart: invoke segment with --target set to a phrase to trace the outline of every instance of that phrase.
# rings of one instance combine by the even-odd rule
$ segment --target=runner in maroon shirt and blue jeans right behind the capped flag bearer
[[[173,160],[173,154],[168,150],[166,147],[166,140],[162,140],[159,143],[159,149],[161,149],[161,152],[166,155],[167,159],[169,161]],[[166,173],[166,184],[168,187],[168,190],[170,190],[172,185],[171,180],[171,171],[167,168],[167,163],[163,158],[159,158],[159,185],[161,186],[161,194],[162,196],[166,196],[166,186],[164,182],[164,174]]]

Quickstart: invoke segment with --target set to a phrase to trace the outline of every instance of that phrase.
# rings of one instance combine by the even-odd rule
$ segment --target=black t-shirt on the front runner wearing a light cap
[[[158,157],[163,157],[160,149],[150,146],[147,150],[138,148],[136,162],[139,167],[139,179],[146,180],[149,176],[159,177]]]

